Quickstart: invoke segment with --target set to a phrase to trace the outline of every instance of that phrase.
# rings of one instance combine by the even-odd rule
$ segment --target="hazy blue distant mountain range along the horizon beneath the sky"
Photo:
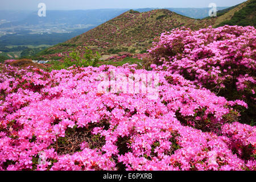
[[[218,7],[224,10],[227,7]],[[141,13],[156,10],[158,8],[135,9]],[[210,8],[164,8],[174,11],[177,14],[190,18],[200,19],[208,16]],[[35,26],[39,24],[93,24],[104,23],[129,9],[98,9],[98,10],[48,10],[46,17],[39,17],[37,12],[31,11],[6,11],[0,10],[0,20],[6,19],[9,22],[0,25],[0,28],[15,26]]]

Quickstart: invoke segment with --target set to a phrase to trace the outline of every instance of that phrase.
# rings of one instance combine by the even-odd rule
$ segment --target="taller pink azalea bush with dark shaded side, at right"
[[[255,40],[254,27],[176,28],[148,51],[154,70],[178,73],[228,100],[246,101],[249,119],[255,119]]]

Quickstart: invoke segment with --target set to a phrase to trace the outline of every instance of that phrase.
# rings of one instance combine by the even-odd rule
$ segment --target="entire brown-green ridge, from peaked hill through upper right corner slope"
[[[177,27],[184,26],[199,30],[208,26],[219,27],[225,24],[255,26],[254,10],[255,0],[220,10],[216,18],[204,19],[189,18],[167,9],[129,10],[84,34],[39,52],[36,57],[44,56],[51,59],[56,57],[56,53],[72,51],[74,48],[80,49],[80,46],[98,51],[101,55],[118,52],[144,53],[162,32],[168,32]]]

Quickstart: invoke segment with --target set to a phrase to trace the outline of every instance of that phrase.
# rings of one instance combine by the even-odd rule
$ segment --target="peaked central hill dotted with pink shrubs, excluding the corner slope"
[[[164,31],[181,26],[197,30],[212,23],[213,20],[196,20],[163,9],[144,13],[130,10],[43,53],[68,51],[83,45],[101,53],[145,52],[154,38]]]

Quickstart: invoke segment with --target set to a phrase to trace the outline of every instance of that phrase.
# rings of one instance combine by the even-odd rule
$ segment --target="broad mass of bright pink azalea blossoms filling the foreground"
[[[255,170],[256,129],[234,109],[245,102],[180,75],[0,67],[1,170]],[[111,71],[159,73],[159,98],[97,92]]]

